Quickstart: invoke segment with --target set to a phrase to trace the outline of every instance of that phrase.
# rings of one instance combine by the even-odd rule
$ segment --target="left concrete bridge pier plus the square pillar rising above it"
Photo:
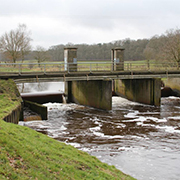
[[[77,71],[77,48],[64,49],[65,64],[69,72]],[[112,109],[112,81],[68,81],[65,83],[67,101],[103,110]]]

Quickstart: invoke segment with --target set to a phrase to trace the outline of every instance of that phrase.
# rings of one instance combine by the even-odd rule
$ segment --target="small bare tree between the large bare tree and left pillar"
[[[37,46],[34,52],[34,58],[37,60],[39,66],[41,62],[47,61],[49,57],[48,51],[42,46]]]

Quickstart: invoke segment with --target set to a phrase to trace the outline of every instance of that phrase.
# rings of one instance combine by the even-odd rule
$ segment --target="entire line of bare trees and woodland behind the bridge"
[[[156,60],[175,61],[180,64],[180,29],[167,30],[162,35],[155,35],[150,39],[132,40],[126,38],[109,43],[98,44],[59,44],[45,49],[37,46],[32,50],[31,33],[26,25],[19,25],[17,29],[4,33],[0,37],[0,58],[16,62],[21,60],[63,61],[64,48],[73,46],[78,48],[78,60],[110,60],[111,49],[123,47],[125,61]]]

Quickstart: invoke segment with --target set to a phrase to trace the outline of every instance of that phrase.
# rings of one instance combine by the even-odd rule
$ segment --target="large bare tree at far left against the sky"
[[[23,62],[24,56],[31,50],[31,40],[26,25],[20,24],[17,29],[0,37],[0,50],[13,63],[16,63],[17,59],[22,59]]]

